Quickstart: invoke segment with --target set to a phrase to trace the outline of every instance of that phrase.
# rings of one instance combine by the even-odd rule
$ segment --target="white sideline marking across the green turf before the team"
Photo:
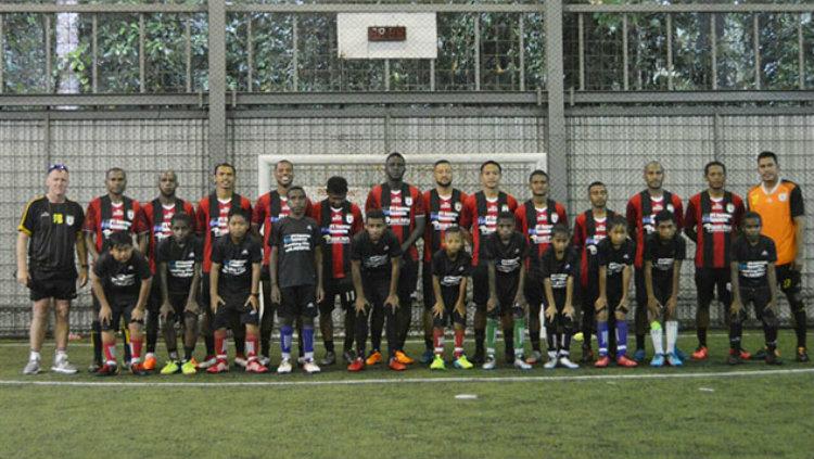
[[[405,378],[329,381],[233,381],[233,382],[122,382],[122,381],[36,381],[0,380],[0,385],[75,386],[75,387],[232,387],[232,386],[308,386],[308,385],[364,385],[364,384],[420,384],[420,383],[482,383],[482,382],[560,382],[560,381],[613,381],[613,380],[670,380],[696,378],[741,378],[777,374],[814,373],[814,368],[788,370],[718,371],[694,373],[651,374],[583,374],[574,377],[453,377],[453,378]]]

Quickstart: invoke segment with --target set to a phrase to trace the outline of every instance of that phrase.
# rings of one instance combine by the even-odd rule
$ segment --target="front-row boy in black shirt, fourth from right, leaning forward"
[[[546,341],[548,361],[543,368],[557,365],[580,368],[571,361],[571,336],[574,332],[574,279],[578,279],[580,257],[569,245],[571,234],[568,227],[557,224],[551,229],[551,246],[539,260],[543,289],[546,293]],[[561,331],[560,331],[561,330]]]

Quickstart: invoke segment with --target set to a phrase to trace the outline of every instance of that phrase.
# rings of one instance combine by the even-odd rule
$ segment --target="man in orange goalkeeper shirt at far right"
[[[803,193],[797,183],[780,178],[777,155],[773,152],[764,151],[758,155],[758,173],[761,183],[749,190],[747,205],[761,216],[763,234],[772,238],[777,246],[777,282],[794,317],[797,361],[809,361],[801,289],[805,259]]]

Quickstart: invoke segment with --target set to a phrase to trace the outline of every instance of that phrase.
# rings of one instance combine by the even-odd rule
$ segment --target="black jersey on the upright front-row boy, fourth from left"
[[[281,289],[316,285],[314,251],[321,242],[319,225],[310,217],[288,216],[275,221],[268,243],[277,247],[277,282]]]

